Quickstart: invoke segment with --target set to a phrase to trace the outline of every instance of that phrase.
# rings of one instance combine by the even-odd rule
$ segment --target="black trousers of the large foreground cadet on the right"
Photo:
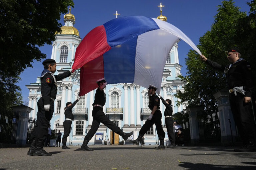
[[[229,93],[231,111],[243,143],[254,142],[255,128],[252,106],[251,102],[244,103],[243,98],[244,95],[241,93],[237,92],[237,96],[234,93]]]

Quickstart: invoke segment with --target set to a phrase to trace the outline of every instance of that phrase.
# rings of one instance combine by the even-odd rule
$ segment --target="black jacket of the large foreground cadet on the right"
[[[225,72],[228,89],[244,86],[243,89],[245,90],[245,96],[252,97],[253,78],[251,72],[251,65],[248,61],[240,60],[231,65],[230,68],[230,64],[226,66],[220,65],[216,62],[211,61],[210,59],[207,59],[205,62],[214,69]]]

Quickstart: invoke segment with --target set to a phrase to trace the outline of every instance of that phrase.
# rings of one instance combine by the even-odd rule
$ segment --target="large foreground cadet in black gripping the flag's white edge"
[[[255,129],[251,106],[253,79],[250,64],[240,56],[239,49],[229,49],[227,57],[231,64],[226,66],[213,62],[204,55],[200,59],[216,70],[225,72],[231,111],[243,141],[243,146],[240,149],[235,149],[235,151],[252,152],[255,149]]]

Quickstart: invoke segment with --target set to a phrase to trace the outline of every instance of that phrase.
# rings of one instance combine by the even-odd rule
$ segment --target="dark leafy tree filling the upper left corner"
[[[61,13],[67,13],[72,0],[1,0],[0,1],[0,96],[4,107],[20,104],[15,83],[33,60],[46,58],[38,46],[54,41],[61,32]]]

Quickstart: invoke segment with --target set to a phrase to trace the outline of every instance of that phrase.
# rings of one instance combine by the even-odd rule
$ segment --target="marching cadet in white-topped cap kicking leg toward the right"
[[[93,110],[92,110],[92,127],[84,137],[84,142],[81,146],[81,150],[83,151],[93,151],[93,149],[90,149],[87,144],[93,137],[93,135],[98,130],[100,123],[104,124],[106,127],[110,128],[117,134],[121,135],[124,140],[126,140],[129,136],[133,134],[133,131],[130,133],[124,133],[119,127],[115,126],[108,117],[103,112],[103,106],[106,103],[106,94],[104,92],[104,88],[106,88],[107,82],[105,78],[99,79],[96,81],[98,84],[98,89],[96,90],[95,96],[94,96],[94,103]]]

